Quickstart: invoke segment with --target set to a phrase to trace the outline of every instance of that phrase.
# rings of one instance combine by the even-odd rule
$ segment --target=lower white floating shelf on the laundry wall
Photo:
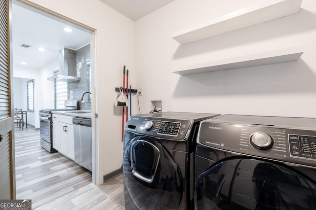
[[[304,46],[297,46],[285,49],[278,49],[257,54],[244,55],[235,58],[228,58],[218,61],[211,61],[202,64],[181,67],[173,73],[188,75],[218,70],[239,69],[267,64],[297,61],[304,52]]]

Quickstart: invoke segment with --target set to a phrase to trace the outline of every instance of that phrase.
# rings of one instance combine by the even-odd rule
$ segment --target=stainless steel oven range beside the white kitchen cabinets
[[[78,108],[78,100],[66,100],[65,108],[62,109],[41,109],[40,110],[40,146],[48,152],[57,152],[53,148],[53,126],[51,111],[75,110]]]

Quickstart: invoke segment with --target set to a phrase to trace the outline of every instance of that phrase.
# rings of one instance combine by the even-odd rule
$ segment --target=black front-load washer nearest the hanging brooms
[[[125,209],[193,209],[194,147],[201,120],[219,114],[133,115],[125,126]]]

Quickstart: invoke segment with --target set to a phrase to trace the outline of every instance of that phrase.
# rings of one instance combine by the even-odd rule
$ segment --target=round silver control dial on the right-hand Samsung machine
[[[268,150],[272,148],[274,141],[269,134],[256,132],[250,136],[250,143],[256,149]]]

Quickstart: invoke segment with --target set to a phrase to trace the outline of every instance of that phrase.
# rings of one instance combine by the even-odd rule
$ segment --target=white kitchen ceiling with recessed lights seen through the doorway
[[[72,28],[71,33],[63,27]],[[12,60],[18,66],[40,69],[59,58],[63,47],[78,50],[90,43],[91,34],[46,17],[19,5],[12,4]],[[31,45],[29,48],[22,44]],[[44,52],[38,50],[45,48]],[[26,65],[21,65],[26,62]]]

